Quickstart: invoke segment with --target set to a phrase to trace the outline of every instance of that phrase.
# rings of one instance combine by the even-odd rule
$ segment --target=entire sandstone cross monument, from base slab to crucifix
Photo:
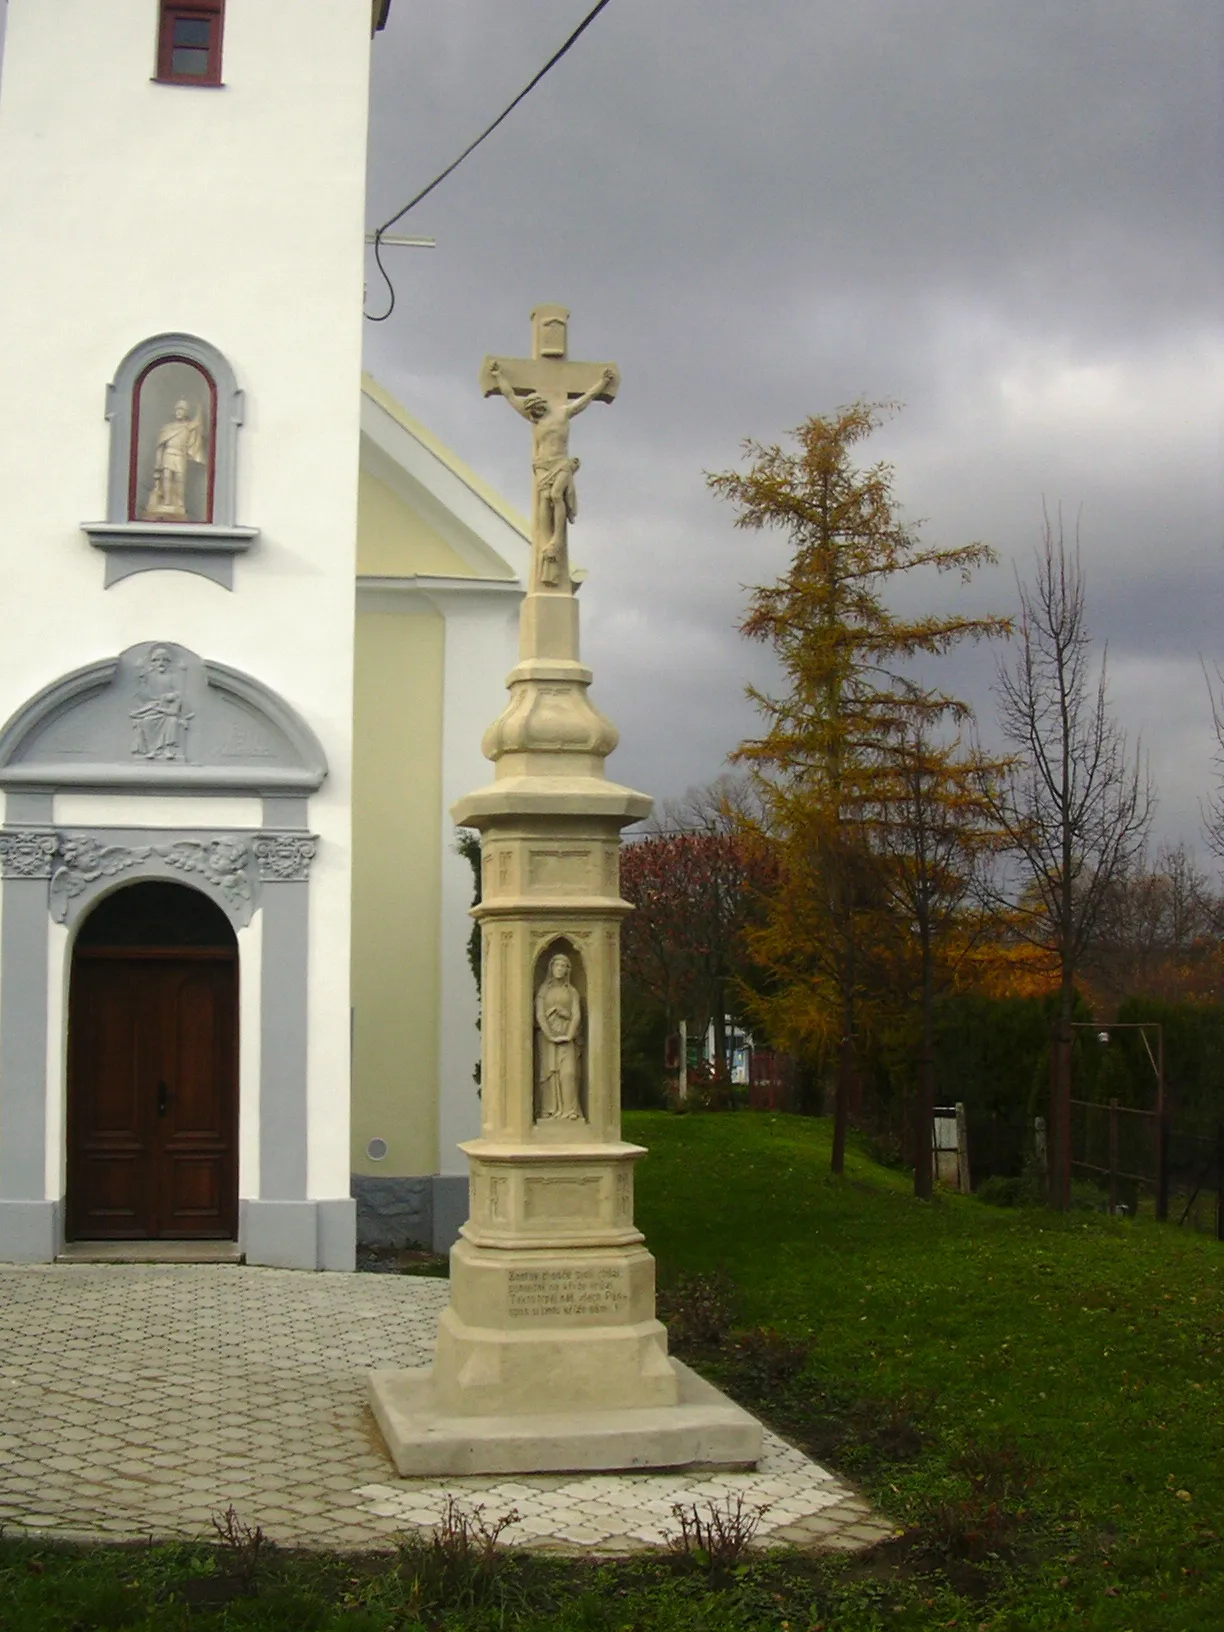
[[[570,313],[537,307],[530,359],[486,357],[485,395],[532,426],[532,581],[493,782],[452,816],[480,829],[481,1133],[432,1366],[370,1374],[401,1474],[752,1466],[761,1426],[667,1356],[654,1260],[620,1138],[620,829],[643,793],[609,782],[617,731],[578,653],[570,421],[612,401],[612,364],[571,362]]]

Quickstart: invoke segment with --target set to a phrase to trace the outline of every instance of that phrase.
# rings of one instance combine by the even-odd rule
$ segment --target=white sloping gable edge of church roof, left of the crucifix
[[[459,454],[366,374],[361,467],[388,486],[477,578],[530,576],[530,529]]]

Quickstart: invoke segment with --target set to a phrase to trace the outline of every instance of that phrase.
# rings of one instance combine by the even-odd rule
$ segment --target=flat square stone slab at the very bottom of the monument
[[[444,1417],[432,1366],[370,1371],[369,1400],[397,1470],[423,1474],[571,1474],[617,1469],[756,1467],[756,1417],[672,1359],[677,1405],[612,1412]]]

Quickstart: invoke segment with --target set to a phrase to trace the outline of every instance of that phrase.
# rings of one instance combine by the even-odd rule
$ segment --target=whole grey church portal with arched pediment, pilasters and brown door
[[[0,1260],[47,1262],[65,1234],[227,1239],[237,1229],[250,1263],[353,1268],[353,1198],[310,1188],[312,1139],[320,1138],[308,1095],[320,842],[308,811],[325,777],[323,749],[286,698],[165,640],[60,676],[0,728]],[[137,885],[186,888],[175,896],[180,904],[207,901],[227,924],[225,958],[180,947],[171,929],[170,943],[160,943],[163,961],[183,976],[171,991],[170,974],[152,973],[157,940],[90,947],[108,924],[108,935],[119,934],[129,902],[153,901],[124,899],[119,886]],[[166,932],[163,922],[157,934]],[[86,938],[73,945],[80,934]],[[245,1043],[228,1092],[238,1103],[225,1113],[225,1116],[214,1110],[173,1142],[176,1090],[142,1017],[168,1005],[166,1027],[194,1027],[194,1035],[215,1027],[222,1036],[228,1025],[237,1036],[235,945]],[[90,1018],[90,991],[106,981],[109,1000]],[[157,1056],[126,1077],[88,1079],[88,1093],[108,1100],[100,1124],[82,1120],[93,1100],[75,1075],[95,1069],[80,1066],[90,1025],[101,1030],[86,1054],[106,1058],[114,1033]],[[207,1041],[214,1054],[227,1048]],[[170,1062],[181,1074],[173,1049]],[[335,1072],[331,1080],[346,1097],[348,1082]],[[158,1084],[166,1111],[145,1126]],[[196,1079],[191,1093],[202,1093]],[[346,1098],[343,1116],[335,1110],[335,1100],[322,1105],[317,1121],[346,1120]],[[209,1118],[217,1126],[206,1128]]]

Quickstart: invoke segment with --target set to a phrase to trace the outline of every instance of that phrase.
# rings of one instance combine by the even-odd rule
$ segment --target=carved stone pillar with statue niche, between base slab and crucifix
[[[633,1227],[645,1152],[620,1138],[620,827],[650,800],[604,777],[617,733],[576,636],[573,596],[527,596],[511,702],[485,734],[496,780],[454,808],[481,834],[485,1018],[472,1217],[434,1361],[444,1410],[677,1400]],[[560,1044],[540,1023],[550,991],[574,1030]]]

